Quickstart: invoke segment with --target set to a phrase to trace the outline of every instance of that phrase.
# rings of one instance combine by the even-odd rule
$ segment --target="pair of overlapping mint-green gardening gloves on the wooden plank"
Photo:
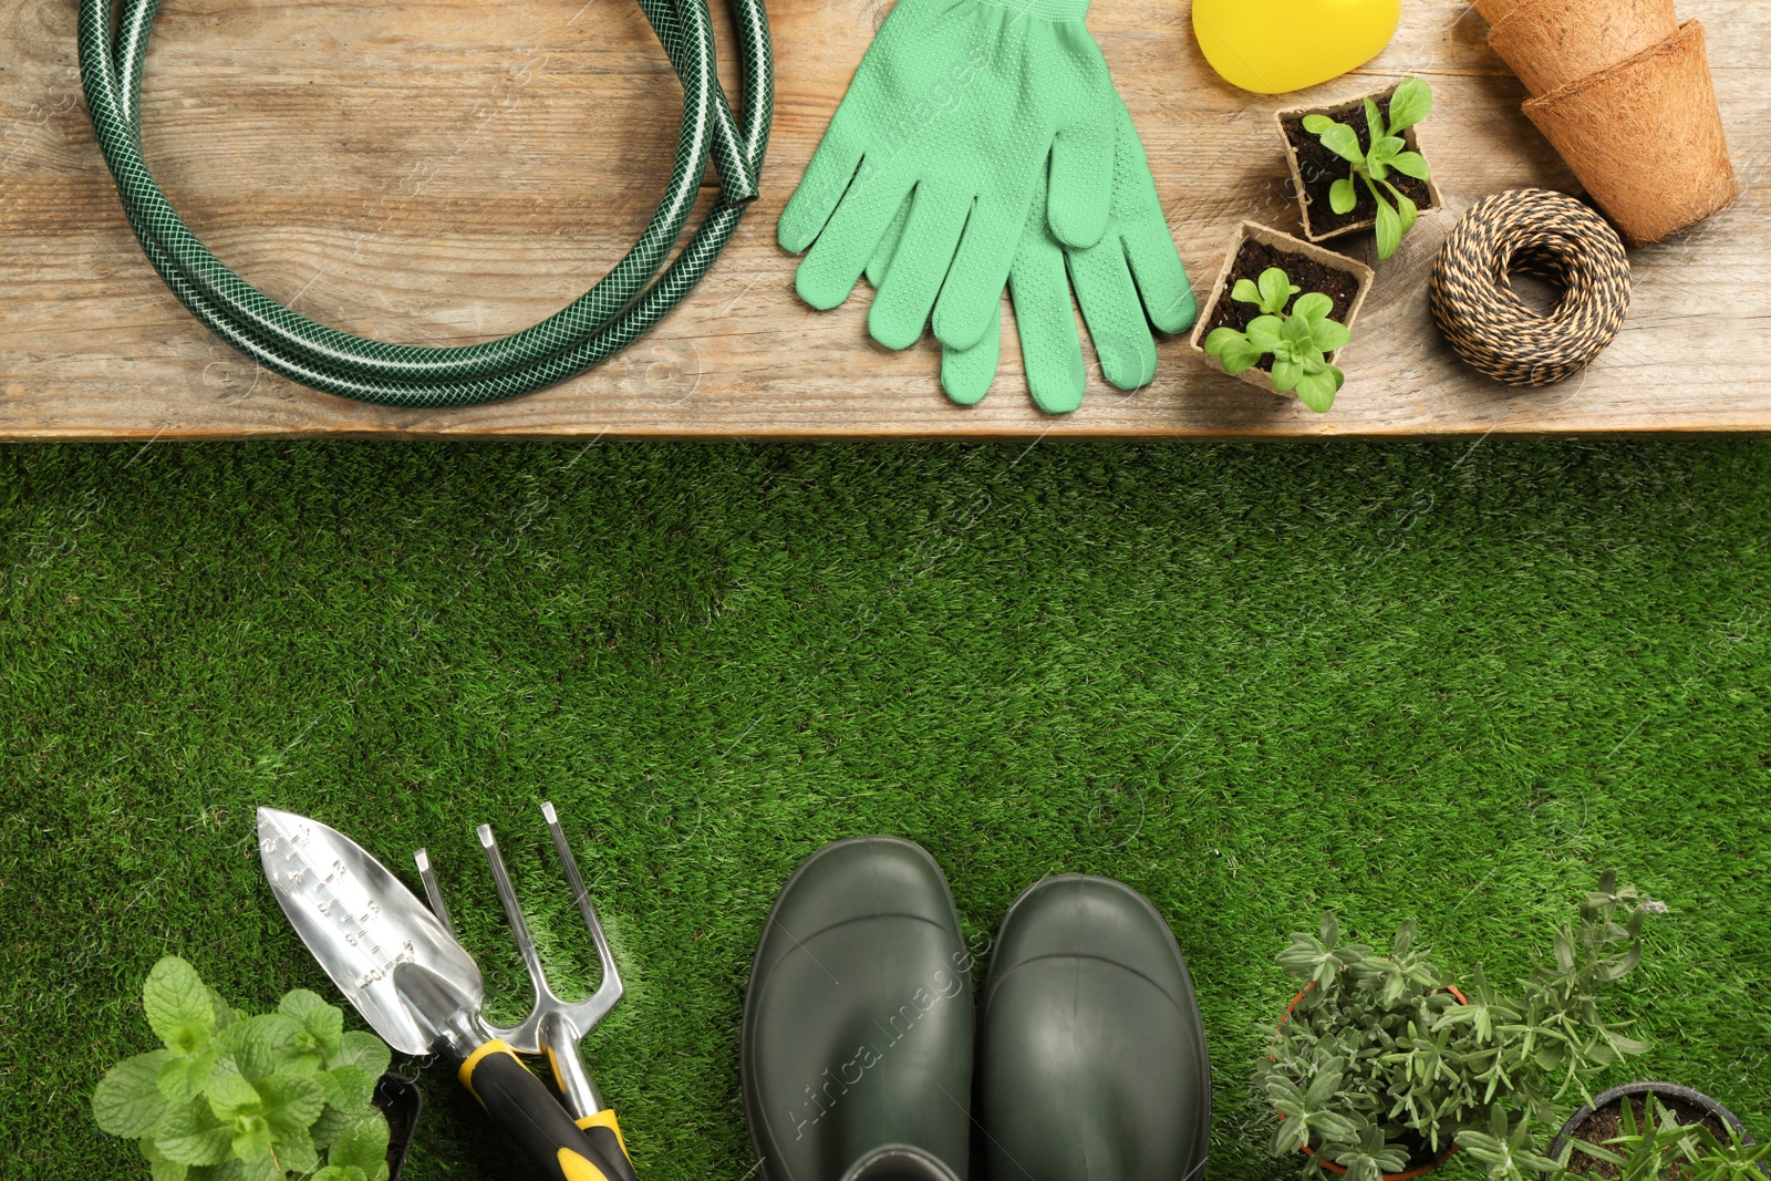
[[[1197,308],[1144,145],[1084,27],[1089,0],[898,0],[781,214],[818,310],[877,289],[868,329],[909,349],[933,320],[962,405],[995,379],[1002,290],[1040,409],[1082,404],[1075,290],[1102,374],[1156,375],[1151,326]]]

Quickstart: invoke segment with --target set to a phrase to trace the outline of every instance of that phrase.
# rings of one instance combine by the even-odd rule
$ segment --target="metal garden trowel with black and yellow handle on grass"
[[[388,869],[317,820],[259,809],[259,857],[313,958],[402,1054],[443,1054],[460,1084],[549,1181],[632,1181],[528,1071],[480,1013],[473,956]]]

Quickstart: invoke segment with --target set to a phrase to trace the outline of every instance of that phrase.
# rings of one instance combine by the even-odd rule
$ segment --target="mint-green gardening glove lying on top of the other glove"
[[[905,202],[901,244],[868,328],[905,349],[976,345],[1036,195],[1068,246],[1107,221],[1118,94],[1089,0],[898,0],[781,214],[815,308],[848,299]],[[1050,175],[1047,177],[1047,161]]]

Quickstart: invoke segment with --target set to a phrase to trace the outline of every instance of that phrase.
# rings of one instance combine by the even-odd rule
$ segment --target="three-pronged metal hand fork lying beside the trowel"
[[[584,1130],[597,1147],[604,1149],[609,1160],[625,1163],[627,1146],[622,1140],[620,1124],[615,1121],[615,1110],[602,1105],[602,1096],[597,1094],[597,1085],[592,1082],[590,1071],[584,1068],[583,1052],[579,1050],[584,1034],[595,1029],[597,1022],[607,1016],[615,1002],[622,999],[622,974],[615,967],[609,940],[602,933],[602,922],[597,921],[597,907],[590,901],[590,891],[584,887],[577,859],[572,857],[572,846],[565,839],[565,830],[560,827],[554,806],[542,804],[542,816],[547,820],[547,832],[553,836],[560,864],[565,866],[567,884],[577,896],[577,908],[584,915],[584,926],[590,928],[590,937],[597,942],[597,958],[602,961],[602,983],[590,1000],[568,1002],[554,993],[547,983],[547,972],[542,969],[540,954],[535,951],[530,924],[522,917],[522,907],[517,903],[517,892],[510,885],[505,859],[499,855],[498,841],[492,838],[492,825],[480,825],[480,848],[485,850],[485,861],[492,869],[492,882],[498,885],[498,899],[505,907],[505,917],[517,937],[517,953],[522,956],[522,965],[530,972],[530,983],[535,986],[535,1004],[528,1018],[510,1029],[494,1027],[492,1032],[517,1054],[545,1057],[553,1066],[554,1084],[558,1084],[560,1094],[565,1098],[567,1108],[572,1112],[577,1126]],[[418,862],[418,873],[425,882],[425,896],[430,899],[430,908],[443,926],[453,933],[448,907],[443,903],[443,891],[437,887],[436,873],[430,869],[429,852],[418,850],[413,859]],[[620,1149],[618,1154],[613,1151],[616,1147]],[[630,1165],[627,1177],[609,1177],[607,1181],[632,1181]]]

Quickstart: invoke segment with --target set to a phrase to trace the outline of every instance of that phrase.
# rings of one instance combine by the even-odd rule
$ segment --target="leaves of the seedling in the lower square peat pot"
[[[1353,333],[1328,319],[1334,299],[1321,292],[1300,296],[1300,290],[1280,267],[1263,271],[1259,283],[1238,280],[1231,299],[1252,303],[1263,315],[1247,331],[1213,329],[1204,347],[1208,356],[1222,361],[1226,374],[1247,372],[1263,356],[1272,356],[1273,391],[1295,391],[1303,405],[1321,414],[1346,384],[1346,374],[1328,365],[1326,354],[1344,347]]]

